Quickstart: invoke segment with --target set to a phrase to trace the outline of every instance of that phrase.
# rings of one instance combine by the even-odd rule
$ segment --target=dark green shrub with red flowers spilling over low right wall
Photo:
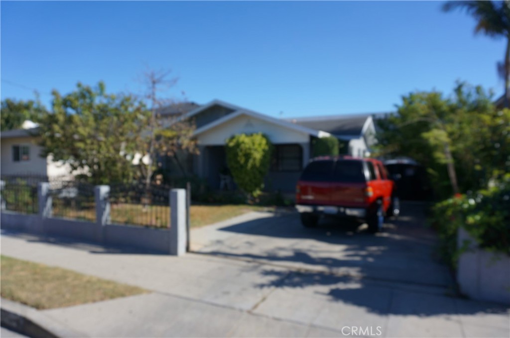
[[[442,255],[456,266],[457,230],[463,227],[479,247],[510,255],[510,175],[476,193],[458,194],[432,207],[432,225],[441,238]]]

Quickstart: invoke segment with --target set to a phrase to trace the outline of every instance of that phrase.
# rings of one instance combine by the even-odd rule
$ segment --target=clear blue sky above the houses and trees
[[[171,69],[162,93],[215,98],[284,118],[394,110],[416,90],[456,80],[503,92],[504,41],[442,2],[7,2],[1,96],[50,104],[78,81],[142,93],[147,69]]]

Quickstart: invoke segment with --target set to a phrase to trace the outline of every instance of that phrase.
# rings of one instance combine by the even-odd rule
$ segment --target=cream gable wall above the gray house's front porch
[[[310,135],[241,115],[198,135],[198,143],[203,146],[223,146],[228,137],[236,134],[263,132],[273,144],[309,143]]]

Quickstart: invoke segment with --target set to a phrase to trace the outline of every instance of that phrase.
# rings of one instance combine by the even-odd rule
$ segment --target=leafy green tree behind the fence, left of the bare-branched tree
[[[132,160],[145,149],[142,132],[149,115],[143,103],[130,95],[107,94],[103,82],[96,88],[79,82],[72,93],[54,90],[52,95],[53,111],[40,123],[41,155],[67,162],[94,184],[138,177]]]

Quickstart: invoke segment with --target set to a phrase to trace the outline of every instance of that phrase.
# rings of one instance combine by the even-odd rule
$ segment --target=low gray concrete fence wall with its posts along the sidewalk
[[[40,235],[62,236],[105,245],[123,245],[181,256],[186,252],[186,190],[170,193],[170,229],[150,229],[139,226],[108,224],[110,206],[108,186],[95,187],[96,222],[52,217],[52,201],[48,183],[39,183],[39,213],[0,212],[3,229]]]

